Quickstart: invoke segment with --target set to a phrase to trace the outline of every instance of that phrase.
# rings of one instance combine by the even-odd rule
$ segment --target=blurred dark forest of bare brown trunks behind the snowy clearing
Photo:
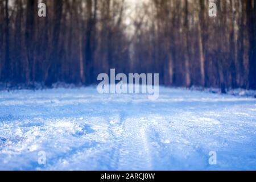
[[[159,73],[163,85],[256,89],[255,43],[256,0],[0,0],[0,82],[14,85],[95,84],[115,68]]]

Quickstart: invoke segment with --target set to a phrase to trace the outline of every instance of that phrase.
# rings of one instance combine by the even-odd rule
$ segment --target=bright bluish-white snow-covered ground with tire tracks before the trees
[[[170,88],[156,101],[93,87],[1,91],[0,169],[255,170],[256,99]]]

